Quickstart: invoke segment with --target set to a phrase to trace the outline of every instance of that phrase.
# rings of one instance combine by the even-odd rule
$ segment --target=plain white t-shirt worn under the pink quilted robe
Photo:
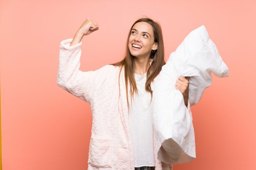
[[[134,153],[134,166],[155,166],[151,95],[145,89],[146,75],[135,74],[138,94],[129,105],[129,125]],[[149,105],[150,104],[150,105]]]

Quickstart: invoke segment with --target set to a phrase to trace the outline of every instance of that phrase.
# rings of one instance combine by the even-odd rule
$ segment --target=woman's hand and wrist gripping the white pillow
[[[177,79],[175,88],[179,90],[184,98],[184,103],[186,106],[188,106],[188,100],[189,100],[189,77],[182,77],[180,76],[179,79]]]

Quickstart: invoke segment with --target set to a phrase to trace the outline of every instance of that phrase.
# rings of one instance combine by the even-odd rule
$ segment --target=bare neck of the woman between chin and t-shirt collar
[[[147,58],[136,58],[134,61],[134,73],[138,75],[143,75],[148,71],[150,66],[149,64],[149,57]]]

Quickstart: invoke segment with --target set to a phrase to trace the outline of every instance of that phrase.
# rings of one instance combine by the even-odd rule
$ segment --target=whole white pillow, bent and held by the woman
[[[153,87],[153,124],[158,159],[165,163],[184,163],[195,158],[192,115],[176,90],[179,76],[189,79],[189,102],[199,102],[204,89],[211,85],[211,72],[227,77],[229,69],[204,25],[191,31],[171,53]]]

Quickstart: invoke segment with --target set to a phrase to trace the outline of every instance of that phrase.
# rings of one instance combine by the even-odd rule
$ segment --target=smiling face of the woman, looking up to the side
[[[157,49],[152,26],[147,22],[136,23],[130,33],[128,48],[135,57],[149,58],[151,50]]]

